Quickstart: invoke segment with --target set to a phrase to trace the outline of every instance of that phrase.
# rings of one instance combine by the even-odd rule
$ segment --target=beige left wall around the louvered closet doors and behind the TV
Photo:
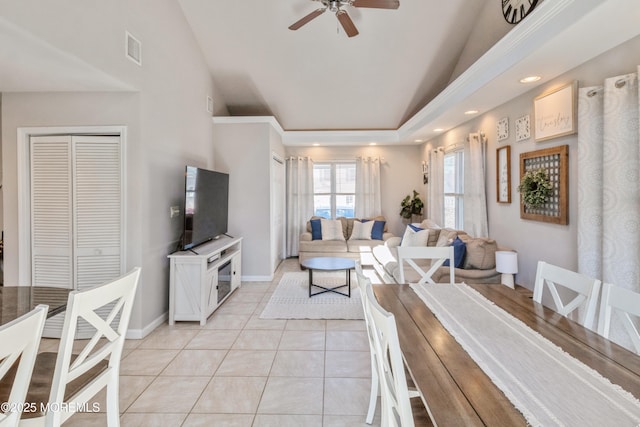
[[[18,276],[17,128],[125,125],[126,268],[142,266],[131,329],[146,333],[168,309],[167,254],[182,228],[182,217],[170,219],[169,207],[183,203],[186,164],[213,166],[213,123],[206,97],[219,101],[217,114],[226,114],[224,101],[172,0],[3,1],[2,15],[55,49],[135,88],[129,93],[3,94],[5,280]],[[125,30],[143,43],[142,67],[124,56]]]

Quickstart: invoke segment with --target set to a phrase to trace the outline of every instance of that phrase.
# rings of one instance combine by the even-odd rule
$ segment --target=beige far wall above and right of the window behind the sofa
[[[286,153],[287,156],[309,156],[314,160],[354,160],[358,156],[383,158],[380,167],[382,215],[387,219],[389,231],[396,236],[402,236],[405,228],[399,214],[402,199],[415,189],[425,200],[421,148],[417,145],[286,147]]]

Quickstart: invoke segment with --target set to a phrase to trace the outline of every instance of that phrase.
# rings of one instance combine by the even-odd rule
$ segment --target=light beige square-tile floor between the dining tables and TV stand
[[[364,321],[259,318],[282,274],[297,270],[297,260],[286,260],[273,282],[243,283],[204,326],[165,324],[127,341],[121,425],[366,426]],[[104,395],[97,401],[106,407]],[[429,424],[424,407],[414,412],[417,425]],[[104,413],[76,414],[65,424],[104,425]]]

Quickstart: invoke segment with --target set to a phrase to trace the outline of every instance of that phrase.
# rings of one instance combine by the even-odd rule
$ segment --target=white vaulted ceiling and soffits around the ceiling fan
[[[287,145],[426,140],[640,34],[637,0],[544,1],[515,27],[497,0],[400,0],[350,9],[351,39],[330,13],[288,30],[310,0],[178,1],[231,114],[274,116]],[[135,90],[2,17],[0,64],[0,92]]]

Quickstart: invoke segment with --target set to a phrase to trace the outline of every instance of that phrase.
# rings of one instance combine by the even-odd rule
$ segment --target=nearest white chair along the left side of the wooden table
[[[412,427],[413,412],[395,317],[378,304],[372,286],[366,287],[365,295],[365,315],[369,316],[372,329],[381,389],[381,425]]]

